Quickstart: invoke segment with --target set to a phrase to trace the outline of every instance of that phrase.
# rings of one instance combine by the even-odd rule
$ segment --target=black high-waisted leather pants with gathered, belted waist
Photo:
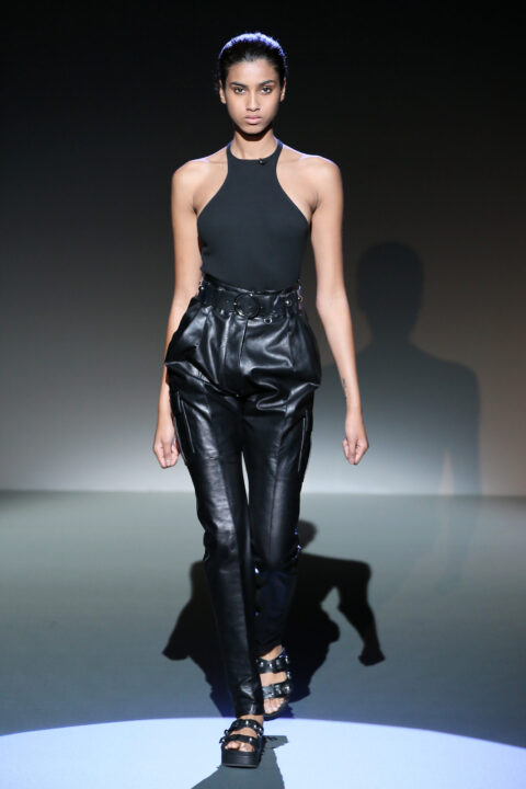
[[[295,590],[300,490],[321,384],[299,281],[262,291],[204,274],[164,364],[204,527],[203,561],[232,707],[237,717],[263,714],[255,658],[282,642]]]

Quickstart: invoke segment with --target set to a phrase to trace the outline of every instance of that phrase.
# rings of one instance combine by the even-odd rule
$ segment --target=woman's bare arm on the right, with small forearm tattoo
[[[313,161],[317,205],[311,241],[316,260],[316,309],[336,363],[345,402],[345,457],[357,464],[369,444],[362,416],[353,322],[343,274],[343,185],[339,167],[321,157]]]

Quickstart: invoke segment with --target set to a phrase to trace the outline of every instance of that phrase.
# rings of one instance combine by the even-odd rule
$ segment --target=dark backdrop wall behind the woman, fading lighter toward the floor
[[[306,489],[524,493],[524,18],[418,3],[20,3],[2,84],[4,488],[190,487],[151,451],[173,287],[170,180],[232,135],[231,36],[289,58],[276,135],[344,179],[370,449],[323,356]],[[343,7],[342,7],[343,8]],[[173,476],[175,474],[175,477]]]

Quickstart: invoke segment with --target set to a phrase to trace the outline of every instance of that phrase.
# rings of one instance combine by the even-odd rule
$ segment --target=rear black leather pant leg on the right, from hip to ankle
[[[243,454],[255,574],[255,650],[282,643],[296,588],[300,493],[321,384],[318,343],[305,315],[249,325],[241,354]]]

